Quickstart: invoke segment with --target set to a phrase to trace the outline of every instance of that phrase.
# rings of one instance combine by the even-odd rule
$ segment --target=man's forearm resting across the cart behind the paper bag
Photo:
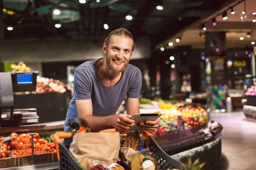
[[[82,119],[82,125],[85,127],[90,127],[93,131],[100,131],[105,130],[113,127],[111,120],[113,116],[83,116]]]

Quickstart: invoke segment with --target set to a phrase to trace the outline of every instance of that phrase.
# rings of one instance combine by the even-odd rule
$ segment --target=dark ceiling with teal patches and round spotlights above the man
[[[102,37],[110,31],[123,27],[131,31],[135,38],[149,36],[152,45],[157,45],[193,22],[214,14],[233,0],[0,0],[0,2],[3,2],[0,4],[0,7],[3,6],[3,15],[0,17],[3,17],[4,39],[86,37],[102,41]],[[156,8],[158,5],[161,5],[163,10],[158,10]],[[59,9],[61,13],[54,14],[55,9]],[[133,19],[127,20],[127,15],[131,15]],[[104,28],[105,24],[108,24],[107,30]],[[56,28],[55,25],[61,27]],[[11,29],[8,28],[9,26],[13,28],[12,31],[8,30]]]

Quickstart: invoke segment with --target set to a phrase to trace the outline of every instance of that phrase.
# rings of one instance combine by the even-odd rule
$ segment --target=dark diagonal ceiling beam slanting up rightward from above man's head
[[[150,17],[151,12],[156,8],[158,4],[158,0],[146,0],[145,5],[140,9],[139,13],[134,18],[134,22],[132,23],[131,27],[128,28],[133,36],[140,34],[141,28],[143,27],[146,18]]]

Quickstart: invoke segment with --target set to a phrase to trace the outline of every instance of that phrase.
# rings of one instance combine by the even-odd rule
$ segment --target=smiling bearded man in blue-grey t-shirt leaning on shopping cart
[[[140,113],[140,69],[128,64],[134,54],[134,38],[124,28],[112,31],[103,43],[105,58],[84,62],[74,73],[74,97],[65,120],[65,132],[71,132],[67,120],[81,117],[82,125],[99,131],[114,127],[125,131],[134,126],[131,117]],[[127,96],[127,114],[117,114]],[[158,127],[159,120],[140,126],[148,132]]]

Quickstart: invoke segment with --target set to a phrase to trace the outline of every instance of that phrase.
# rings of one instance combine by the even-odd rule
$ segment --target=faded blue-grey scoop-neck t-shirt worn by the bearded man
[[[117,85],[107,87],[96,73],[96,62],[87,61],[79,65],[74,73],[74,97],[71,99],[65,120],[65,132],[71,132],[67,120],[78,117],[76,99],[91,99],[93,116],[115,115],[125,99],[140,98],[142,75],[140,69],[128,64]],[[85,106],[86,107],[86,106]]]

